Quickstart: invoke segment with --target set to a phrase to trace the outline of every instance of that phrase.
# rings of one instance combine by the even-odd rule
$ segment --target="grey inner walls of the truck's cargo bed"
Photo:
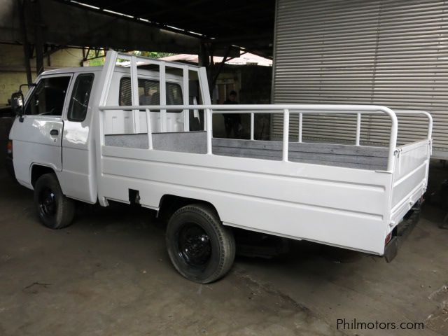
[[[106,146],[148,148],[147,134],[109,134]],[[215,155],[281,161],[281,141],[213,139]],[[207,153],[207,132],[153,133],[153,148],[158,151]],[[384,147],[350,146],[290,142],[291,162],[313,163],[368,170],[385,170],[388,150]]]

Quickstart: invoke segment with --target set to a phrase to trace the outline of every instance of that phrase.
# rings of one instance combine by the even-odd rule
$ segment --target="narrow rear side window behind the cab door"
[[[93,73],[81,73],[76,77],[73,92],[70,98],[69,113],[67,119],[71,121],[83,121],[89,106],[90,91],[93,84]]]

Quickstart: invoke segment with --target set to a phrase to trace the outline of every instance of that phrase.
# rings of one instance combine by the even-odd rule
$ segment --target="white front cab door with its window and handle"
[[[32,165],[62,170],[62,113],[71,77],[64,73],[39,78],[27,96],[24,116],[17,117],[11,129],[15,176],[29,188]]]

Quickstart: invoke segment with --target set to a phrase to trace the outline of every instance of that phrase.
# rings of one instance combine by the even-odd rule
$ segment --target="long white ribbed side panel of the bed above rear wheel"
[[[102,153],[101,183],[111,200],[127,202],[129,188],[139,190],[141,204],[153,209],[167,194],[207,200],[228,225],[378,254],[384,250],[381,223],[391,174],[108,146]]]

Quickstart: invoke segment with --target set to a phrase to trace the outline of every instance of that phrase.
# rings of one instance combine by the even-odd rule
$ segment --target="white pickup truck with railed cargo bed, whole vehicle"
[[[130,66],[119,66],[122,59]],[[13,94],[13,108],[15,176],[34,190],[44,225],[69,225],[78,201],[154,209],[169,215],[174,267],[199,283],[232,267],[233,228],[391,260],[402,218],[416,209],[427,185],[428,113],[366,105],[211,105],[205,69],[188,64],[110,51],[102,67],[42,73],[25,99]],[[250,139],[214,138],[216,113],[250,113]],[[283,139],[254,139],[255,113],[281,113]],[[296,139],[289,137],[292,113],[299,116]],[[353,144],[302,141],[304,113],[356,115]],[[390,118],[388,147],[363,146],[363,118],[377,113]],[[428,123],[427,137],[397,146],[397,116],[409,113]]]

